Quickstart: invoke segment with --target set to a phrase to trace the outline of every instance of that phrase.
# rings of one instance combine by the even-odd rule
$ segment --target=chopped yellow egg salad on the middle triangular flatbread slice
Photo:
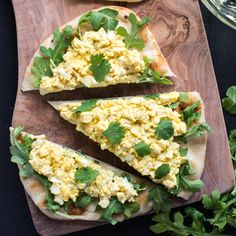
[[[180,155],[180,145],[173,141],[173,136],[186,132],[186,124],[179,113],[168,107],[178,99],[179,93],[172,92],[158,98],[97,100],[86,112],[75,112],[81,102],[61,105],[59,110],[63,118],[77,124],[77,130],[98,142],[102,149],[110,150],[142,175],[172,189],[177,184],[179,168],[186,161]],[[168,139],[156,137],[157,124],[163,120],[173,126],[173,135]],[[109,135],[113,139],[109,140]],[[170,170],[157,178],[156,170],[163,164],[168,164]]]

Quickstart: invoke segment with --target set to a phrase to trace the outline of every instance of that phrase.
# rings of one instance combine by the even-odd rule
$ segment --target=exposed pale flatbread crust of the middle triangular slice
[[[192,101],[201,100],[201,117],[199,118],[199,123],[205,122],[204,104],[200,94],[198,92],[188,92],[188,94],[190,100]],[[78,101],[49,101],[49,104],[52,105],[56,110],[59,110],[59,107],[62,104],[73,103],[73,102],[78,102]],[[63,119],[66,120],[65,117],[63,117]],[[70,123],[73,124],[73,122]],[[190,178],[193,180],[200,179],[203,173],[204,163],[205,163],[207,133],[205,133],[201,137],[192,138],[185,146],[188,148],[187,159],[191,163],[192,167],[196,169],[196,174],[192,175]],[[181,191],[178,194],[178,197],[188,200],[192,194],[193,194],[192,192]]]

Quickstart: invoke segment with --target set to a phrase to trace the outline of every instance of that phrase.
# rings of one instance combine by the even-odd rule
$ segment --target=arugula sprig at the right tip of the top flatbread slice
[[[140,81],[145,82],[145,81],[150,81],[150,79],[152,79],[157,84],[163,84],[163,85],[172,85],[173,84],[173,82],[171,80],[167,79],[166,76],[161,76],[157,71],[153,71],[151,69],[151,67],[149,65],[149,60],[146,56],[143,57],[143,60],[145,63],[145,69],[143,71],[142,76],[140,77]],[[158,95],[158,98],[159,97],[160,96]]]

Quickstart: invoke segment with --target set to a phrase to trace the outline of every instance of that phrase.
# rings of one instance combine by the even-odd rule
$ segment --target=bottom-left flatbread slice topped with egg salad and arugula
[[[26,192],[53,219],[115,224],[155,209],[158,189],[145,179],[21,127],[11,128],[11,144],[11,161],[18,164]]]

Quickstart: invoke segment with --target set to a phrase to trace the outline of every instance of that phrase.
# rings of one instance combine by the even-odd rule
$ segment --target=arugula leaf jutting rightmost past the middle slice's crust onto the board
[[[211,127],[207,123],[202,122],[201,124],[193,126],[190,130],[187,130],[185,134],[175,137],[175,141],[187,143],[190,138],[200,137],[205,132],[209,131],[211,131]]]

